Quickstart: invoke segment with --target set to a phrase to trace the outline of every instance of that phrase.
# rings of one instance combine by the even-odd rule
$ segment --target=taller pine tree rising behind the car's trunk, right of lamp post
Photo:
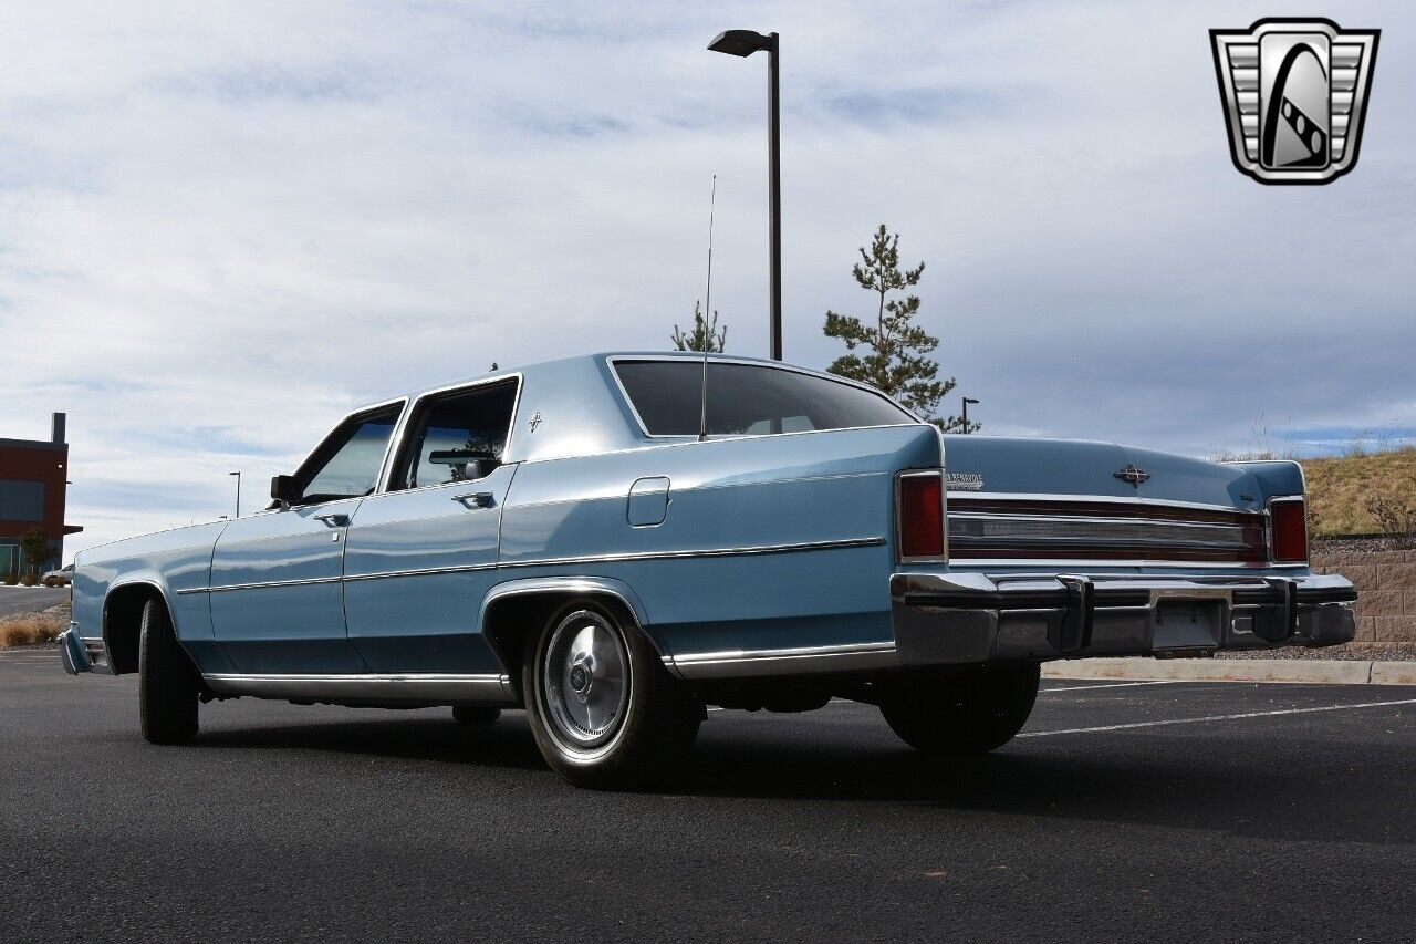
[[[919,285],[925,264],[901,269],[899,234],[891,234],[884,223],[869,249],[861,247],[860,252],[861,261],[851,266],[851,275],[857,285],[875,295],[875,325],[828,310],[826,336],[845,342],[851,353],[837,357],[827,370],[875,387],[944,432],[973,432],[977,422],[966,429],[959,417],[935,415],[939,401],[957,381],[953,377],[939,380],[939,363],[929,356],[939,347],[939,339],[915,323],[919,296],[906,289]],[[855,353],[858,347],[862,353]]]

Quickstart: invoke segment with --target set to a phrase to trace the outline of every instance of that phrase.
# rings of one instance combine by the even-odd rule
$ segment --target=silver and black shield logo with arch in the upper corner
[[[1211,30],[1239,173],[1266,184],[1325,184],[1352,170],[1381,34],[1287,18]]]

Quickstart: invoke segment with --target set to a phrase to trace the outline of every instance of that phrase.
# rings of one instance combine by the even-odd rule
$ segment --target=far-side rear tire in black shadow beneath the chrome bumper
[[[1012,740],[1032,714],[1037,662],[984,666],[964,675],[925,672],[881,700],[891,729],[930,754],[983,754]]]

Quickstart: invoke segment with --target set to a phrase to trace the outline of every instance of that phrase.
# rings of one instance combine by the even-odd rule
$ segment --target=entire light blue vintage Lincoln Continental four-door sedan
[[[643,782],[705,709],[879,707],[987,751],[1039,663],[1323,646],[1291,462],[946,437],[772,361],[600,354],[346,417],[272,505],[78,556],[71,672],[139,675],[143,736],[200,704],[525,709],[576,784]]]

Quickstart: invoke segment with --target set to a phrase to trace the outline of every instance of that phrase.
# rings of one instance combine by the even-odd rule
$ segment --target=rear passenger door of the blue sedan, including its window
[[[409,412],[388,488],[360,505],[344,560],[348,638],[377,673],[487,673],[480,635],[496,583],[503,465],[520,377],[422,397]]]

